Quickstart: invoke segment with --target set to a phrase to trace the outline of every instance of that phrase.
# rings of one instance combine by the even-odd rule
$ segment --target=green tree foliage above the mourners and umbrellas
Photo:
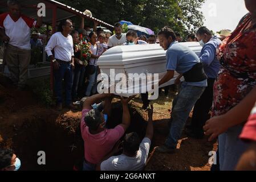
[[[151,28],[156,33],[164,26],[187,36],[202,26],[204,16],[200,11],[205,0],[59,0],[84,11],[109,24],[127,20]],[[79,23],[79,22],[78,22]],[[92,26],[90,22],[86,22]]]

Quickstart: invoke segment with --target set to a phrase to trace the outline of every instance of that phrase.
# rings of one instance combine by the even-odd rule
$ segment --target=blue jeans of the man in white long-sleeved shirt
[[[59,63],[59,69],[54,70],[54,83],[57,104],[62,104],[62,81],[64,79],[66,90],[66,105],[71,104],[72,67],[70,64]]]

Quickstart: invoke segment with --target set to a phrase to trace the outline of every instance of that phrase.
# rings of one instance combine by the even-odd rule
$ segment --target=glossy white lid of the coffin
[[[180,43],[188,46],[192,51],[200,54],[202,47],[198,42]],[[166,57],[166,51],[160,44],[143,44],[134,46],[116,46],[108,49],[100,56],[97,65],[127,65],[144,61],[162,60]]]

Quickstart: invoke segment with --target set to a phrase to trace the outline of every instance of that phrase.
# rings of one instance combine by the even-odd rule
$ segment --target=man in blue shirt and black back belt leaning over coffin
[[[177,79],[180,79],[182,75],[185,78],[180,92],[173,100],[168,138],[163,146],[156,147],[156,151],[172,153],[177,147],[177,141],[181,137],[190,111],[207,86],[207,77],[196,53],[178,43],[176,35],[170,27],[162,28],[157,36],[160,40],[160,46],[167,50],[167,72],[159,81],[159,85],[172,79],[174,71],[180,73]]]

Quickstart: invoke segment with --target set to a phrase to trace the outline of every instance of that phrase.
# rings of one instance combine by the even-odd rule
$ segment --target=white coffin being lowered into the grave
[[[200,54],[202,47],[197,42],[185,42],[180,43],[184,46],[188,46],[192,49],[197,55]],[[145,45],[134,45],[134,46],[117,46],[109,49],[104,52],[102,56],[100,56],[97,61],[97,65],[101,70],[103,75],[108,76],[109,80],[106,78],[103,79],[103,76],[99,76],[98,80],[102,81],[101,88],[105,86],[105,90],[111,86],[113,86],[113,79],[111,80],[111,76],[115,78],[115,85],[120,82],[119,73],[126,75],[126,87],[121,87],[120,85],[115,88],[115,94],[119,96],[132,96],[134,94],[145,93],[145,91],[152,92],[152,87],[149,85],[149,80],[151,80],[150,75],[152,74],[152,82],[159,82],[161,78],[166,73],[166,51],[160,47],[159,44],[145,44]],[[114,71],[114,72],[113,72]],[[146,75],[146,78],[141,76],[141,73]],[[133,75],[134,77],[129,77],[128,75]],[[137,75],[136,75],[137,74]],[[158,78],[155,75],[158,75]],[[140,82],[134,82],[137,77],[140,77]],[[164,87],[167,85],[174,84],[178,73],[175,73],[172,80],[166,82],[159,87]],[[147,80],[147,85],[141,84],[143,80]],[[112,84],[111,84],[112,81]],[[123,80],[123,82],[125,82]],[[131,85],[131,82],[133,84]],[[152,84],[151,82],[151,84]],[[112,89],[113,92],[113,89]],[[112,93],[111,92],[111,93]]]

